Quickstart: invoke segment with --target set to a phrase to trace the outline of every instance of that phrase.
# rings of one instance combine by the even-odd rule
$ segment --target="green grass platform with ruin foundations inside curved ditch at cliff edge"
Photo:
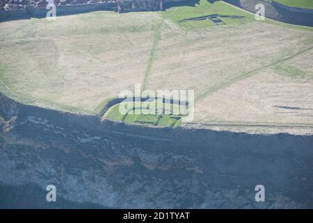
[[[134,102],[132,106],[127,107],[127,102],[121,102],[113,105],[104,114],[104,118],[111,121],[122,121],[131,125],[154,125],[159,127],[176,128],[182,123],[182,114],[175,111],[175,105],[154,100],[152,103]],[[154,104],[155,107],[151,107]],[[121,112],[121,109],[126,109]]]

